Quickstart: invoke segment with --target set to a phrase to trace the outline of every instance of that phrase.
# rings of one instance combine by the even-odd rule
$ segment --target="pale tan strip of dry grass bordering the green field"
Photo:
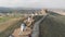
[[[5,28],[8,28],[9,26],[13,25],[13,23],[15,23],[17,21],[18,21],[18,18],[12,18],[10,21],[6,21],[6,22],[2,23],[0,25],[0,32],[3,32]]]

